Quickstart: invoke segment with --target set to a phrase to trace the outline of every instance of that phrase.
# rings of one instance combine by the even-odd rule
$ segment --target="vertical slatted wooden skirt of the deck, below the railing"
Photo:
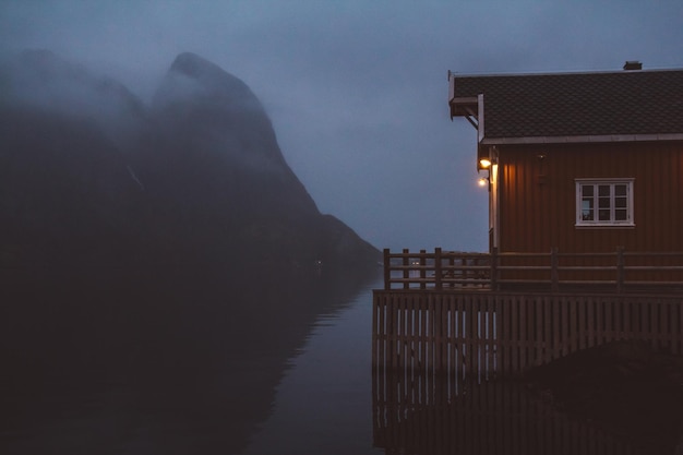
[[[682,296],[375,290],[373,299],[373,364],[454,383],[619,339],[683,354]]]

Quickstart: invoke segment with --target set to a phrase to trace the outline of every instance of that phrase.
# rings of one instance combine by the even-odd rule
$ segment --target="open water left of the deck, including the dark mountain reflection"
[[[1,454],[373,453],[368,277],[24,279]]]

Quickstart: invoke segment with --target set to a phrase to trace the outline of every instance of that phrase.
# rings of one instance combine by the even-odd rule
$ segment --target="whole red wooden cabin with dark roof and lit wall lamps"
[[[577,283],[615,261],[627,282],[683,282],[683,70],[448,80],[451,117],[478,133],[490,249],[528,267],[503,278],[540,278],[531,254],[554,251]]]

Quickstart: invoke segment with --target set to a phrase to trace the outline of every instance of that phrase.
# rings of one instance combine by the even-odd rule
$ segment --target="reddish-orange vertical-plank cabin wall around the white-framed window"
[[[683,251],[683,143],[500,146],[500,251]],[[633,178],[635,227],[576,227],[576,178]]]

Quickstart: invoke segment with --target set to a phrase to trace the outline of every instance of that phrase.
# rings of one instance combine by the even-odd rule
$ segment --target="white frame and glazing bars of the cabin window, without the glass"
[[[590,227],[634,227],[635,226],[635,216],[634,216],[634,206],[633,206],[633,178],[611,178],[611,179],[595,179],[595,178],[585,178],[585,179],[575,179],[575,194],[576,194],[576,221],[575,227],[580,228],[590,228]],[[626,185],[626,194],[619,195],[615,192],[616,185]],[[597,219],[584,219],[584,187],[592,187],[592,205],[590,209],[594,212],[594,218]],[[604,195],[600,194],[600,188],[609,187],[610,194]],[[606,199],[609,197],[609,206],[600,207],[600,202],[604,202]],[[625,207],[618,207],[616,201],[621,199],[621,203],[625,203]],[[599,219],[600,209],[606,211],[609,208],[609,219]],[[626,218],[625,219],[616,219],[615,211],[616,209],[625,209]]]

